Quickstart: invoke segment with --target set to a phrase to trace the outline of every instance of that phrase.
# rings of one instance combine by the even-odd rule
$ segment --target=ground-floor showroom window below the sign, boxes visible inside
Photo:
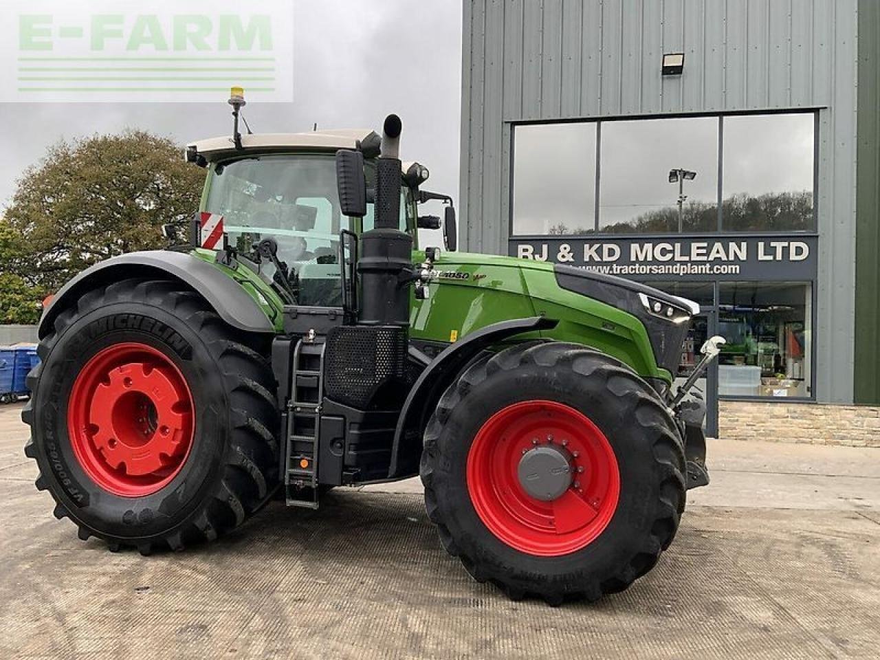
[[[812,349],[810,284],[721,282],[718,393],[808,398]]]

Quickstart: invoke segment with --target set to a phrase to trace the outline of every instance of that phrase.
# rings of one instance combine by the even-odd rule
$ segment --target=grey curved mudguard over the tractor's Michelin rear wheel
[[[42,339],[55,317],[69,304],[95,286],[128,277],[157,277],[180,280],[197,291],[229,325],[248,333],[275,333],[260,306],[231,277],[187,253],[165,250],[133,252],[101,261],[67,282],[43,312],[38,334]]]

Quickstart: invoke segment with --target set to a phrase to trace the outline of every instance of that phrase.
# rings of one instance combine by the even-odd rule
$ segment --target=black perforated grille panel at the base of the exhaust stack
[[[348,406],[384,407],[407,382],[407,331],[400,327],[341,326],[327,335],[324,386]]]

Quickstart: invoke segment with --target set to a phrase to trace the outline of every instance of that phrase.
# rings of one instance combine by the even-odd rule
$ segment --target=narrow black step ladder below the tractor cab
[[[324,383],[323,338],[302,339],[293,351],[293,388],[288,404],[287,471],[284,474],[288,506],[318,509],[318,454],[321,399]]]

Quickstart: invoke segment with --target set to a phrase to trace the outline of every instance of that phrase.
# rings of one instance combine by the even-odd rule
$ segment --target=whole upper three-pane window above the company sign
[[[512,235],[815,231],[816,117],[516,126]]]

